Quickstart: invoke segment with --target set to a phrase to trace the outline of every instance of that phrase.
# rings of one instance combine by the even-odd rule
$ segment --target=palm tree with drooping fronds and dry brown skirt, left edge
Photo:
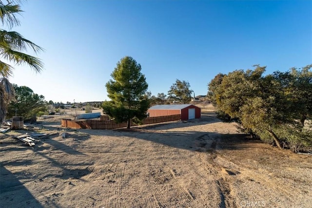
[[[20,2],[22,0],[0,0],[0,24],[2,27],[6,25],[12,29],[13,26],[20,25],[17,18],[17,15],[23,12],[20,9]],[[39,58],[23,53],[29,48],[36,54],[43,51],[40,46],[25,39],[19,33],[0,29],[0,124],[5,117],[10,101],[15,97],[14,88],[8,80],[14,69],[11,64],[27,64],[37,73],[43,69],[43,63]],[[3,59],[9,63],[3,62]]]

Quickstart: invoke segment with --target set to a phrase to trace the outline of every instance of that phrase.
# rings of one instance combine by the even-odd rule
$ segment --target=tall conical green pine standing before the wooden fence
[[[141,73],[141,65],[132,57],[123,57],[106,83],[110,101],[102,104],[103,112],[115,118],[116,122],[141,120],[146,117],[149,100],[146,92],[148,84]]]

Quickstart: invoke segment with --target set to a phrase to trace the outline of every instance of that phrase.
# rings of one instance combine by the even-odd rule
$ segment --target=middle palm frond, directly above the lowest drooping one
[[[20,33],[15,31],[6,31],[0,29],[0,46],[10,47],[13,50],[27,50],[28,47],[32,48],[37,54],[39,51],[43,51],[43,48],[36,45],[30,40],[25,39]]]

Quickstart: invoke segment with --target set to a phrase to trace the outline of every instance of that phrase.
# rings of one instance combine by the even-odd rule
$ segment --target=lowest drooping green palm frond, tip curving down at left
[[[15,51],[11,48],[0,47],[0,55],[18,65],[27,63],[37,73],[43,69],[43,63],[39,58]]]

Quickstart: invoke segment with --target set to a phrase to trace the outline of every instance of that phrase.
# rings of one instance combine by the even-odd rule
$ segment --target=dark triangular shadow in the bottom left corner
[[[6,164],[8,165],[8,163]],[[43,208],[31,192],[20,182],[20,180],[5,165],[0,167],[0,201],[1,207],[29,207]],[[16,194],[17,193],[17,194]],[[14,205],[11,201],[14,200]],[[16,200],[18,198],[18,200]]]

